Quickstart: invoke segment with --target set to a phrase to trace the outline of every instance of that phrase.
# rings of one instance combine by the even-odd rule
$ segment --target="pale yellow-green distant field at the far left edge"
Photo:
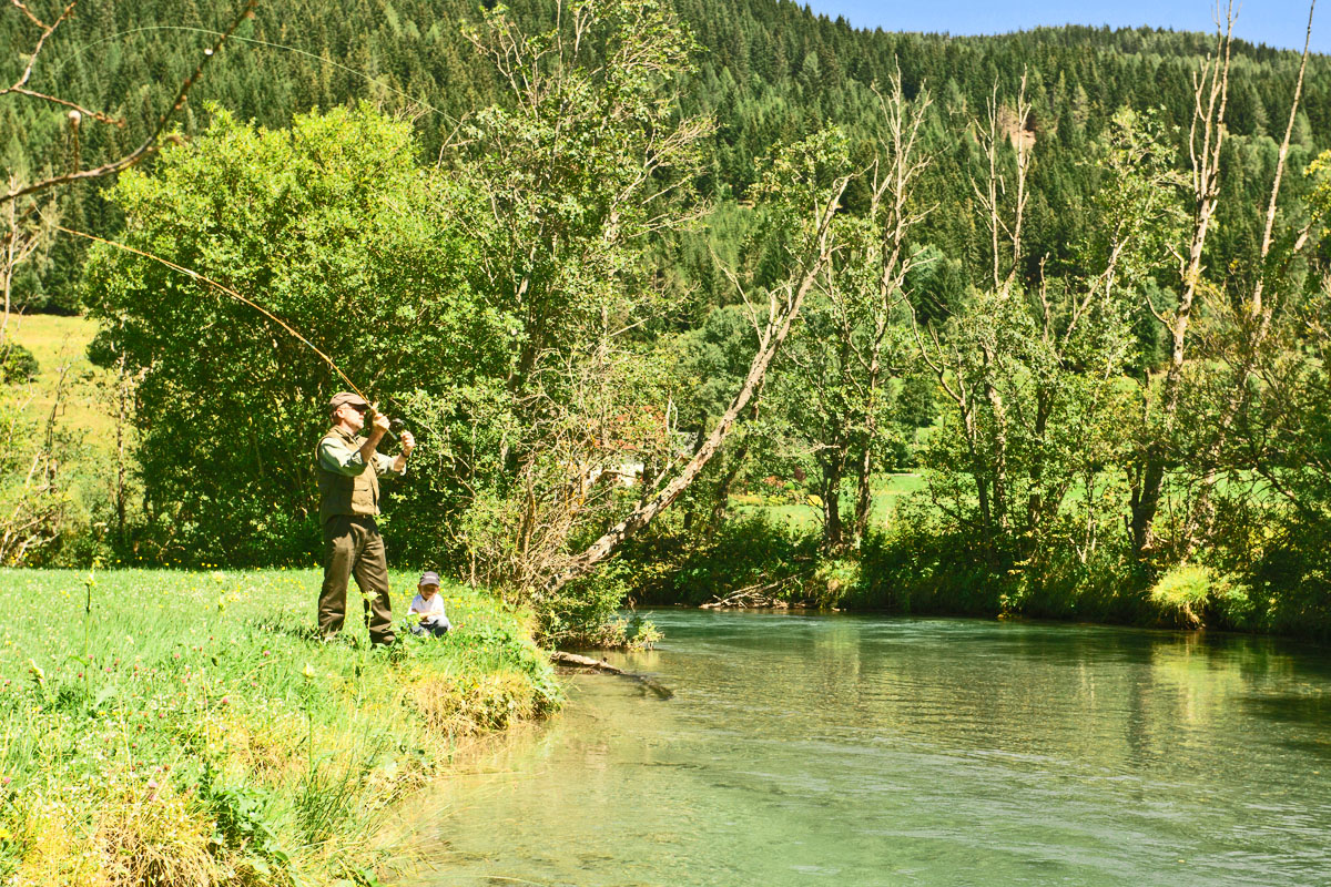
[[[7,330],[7,335],[32,351],[41,368],[28,412],[43,420],[51,415],[61,367],[68,366],[57,420],[64,428],[87,432],[85,443],[95,451],[106,451],[114,447],[110,391],[102,388],[110,374],[88,360],[88,343],[96,332],[96,320],[52,314],[12,315]]]

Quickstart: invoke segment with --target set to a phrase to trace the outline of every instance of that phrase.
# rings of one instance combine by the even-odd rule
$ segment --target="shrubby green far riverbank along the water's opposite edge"
[[[1326,573],[1199,552],[1182,564],[1134,563],[1105,545],[1037,564],[928,520],[900,520],[856,551],[828,555],[817,533],[769,515],[723,523],[701,541],[663,521],[620,563],[638,605],[801,606],[914,616],[1032,617],[1139,628],[1210,628],[1331,638]]]

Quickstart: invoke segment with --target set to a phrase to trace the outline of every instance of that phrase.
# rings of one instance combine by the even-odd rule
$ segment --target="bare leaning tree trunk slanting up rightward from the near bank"
[[[849,177],[843,178],[839,186],[833,189],[832,198],[827,202],[827,206],[823,207],[819,217],[817,237],[815,238],[815,255],[805,266],[799,286],[791,287],[784,306],[777,306],[776,297],[771,297],[772,303],[768,314],[767,328],[759,338],[757,354],[753,355],[753,360],[749,363],[749,371],[744,378],[744,384],[740,386],[739,392],[735,395],[735,399],[731,400],[731,406],[721,415],[720,422],[716,423],[712,434],[707,438],[703,445],[697,448],[697,452],[693,453],[693,457],[688,461],[688,464],[680,469],[679,475],[666,484],[659,493],[638,505],[638,508],[635,508],[628,517],[611,527],[610,531],[607,531],[600,539],[588,545],[580,555],[570,559],[559,572],[551,576],[544,586],[544,592],[547,594],[554,594],[572,580],[590,573],[595,569],[596,564],[606,560],[606,557],[608,557],[611,552],[620,545],[620,543],[647,527],[647,524],[650,524],[656,515],[669,508],[669,505],[679,499],[679,495],[684,492],[701,473],[707,463],[721,448],[721,444],[725,443],[725,438],[735,426],[735,420],[739,419],[744,407],[747,407],[749,400],[753,398],[753,394],[761,387],[763,379],[767,376],[767,370],[772,364],[772,359],[781,347],[781,342],[785,340],[787,334],[789,334],[791,324],[795,322],[795,318],[800,314],[800,306],[804,305],[804,297],[807,297],[809,290],[813,289],[813,282],[817,279],[819,274],[823,273],[823,269],[832,258],[832,242],[828,237],[828,231],[832,226],[832,217],[836,214],[837,206],[841,202],[841,194],[845,191],[845,186],[849,181]]]

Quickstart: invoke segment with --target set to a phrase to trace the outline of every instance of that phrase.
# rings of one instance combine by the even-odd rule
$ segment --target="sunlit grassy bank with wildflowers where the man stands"
[[[373,884],[395,802],[558,705],[528,618],[467,589],[383,652],[313,638],[314,570],[88,576],[0,570],[5,884]]]

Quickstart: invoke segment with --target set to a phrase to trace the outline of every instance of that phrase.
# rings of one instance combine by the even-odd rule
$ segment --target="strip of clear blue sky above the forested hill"
[[[804,0],[801,0],[804,1]],[[1153,25],[1175,31],[1213,31],[1210,0],[807,0],[815,12],[845,16],[857,28],[933,31],[954,35],[1005,33],[1037,25]],[[1324,5],[1331,1],[1322,0]],[[1238,4],[1235,4],[1238,5]],[[1234,36],[1288,49],[1303,48],[1308,4],[1300,0],[1247,0],[1239,7]],[[1312,20],[1312,51],[1331,53],[1331,11]]]

